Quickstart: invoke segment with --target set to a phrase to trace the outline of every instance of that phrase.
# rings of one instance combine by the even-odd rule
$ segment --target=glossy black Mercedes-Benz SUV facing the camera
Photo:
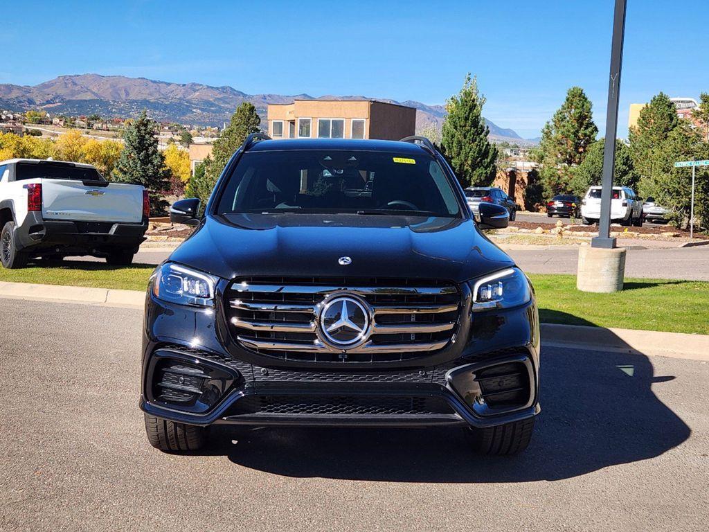
[[[145,305],[140,408],[165,451],[214,424],[462,426],[514,454],[539,413],[532,286],[425,138],[251,135]]]

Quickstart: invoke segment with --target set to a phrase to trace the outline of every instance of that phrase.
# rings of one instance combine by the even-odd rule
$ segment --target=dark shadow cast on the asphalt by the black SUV
[[[289,477],[526,482],[653,458],[691,433],[651,389],[674,376],[645,355],[542,348],[541,375],[542,413],[516,457],[472,453],[459,428],[219,428],[211,452]]]

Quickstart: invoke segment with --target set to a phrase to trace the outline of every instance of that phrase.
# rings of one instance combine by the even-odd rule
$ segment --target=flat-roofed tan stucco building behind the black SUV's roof
[[[271,138],[377,138],[413,135],[416,109],[376,100],[296,100],[269,104]]]

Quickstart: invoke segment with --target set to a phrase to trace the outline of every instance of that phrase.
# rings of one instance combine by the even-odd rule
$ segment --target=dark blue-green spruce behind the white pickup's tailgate
[[[169,187],[169,175],[164,167],[164,157],[157,150],[155,121],[140,113],[138,120],[125,129],[125,146],[116,163],[114,180],[142,184],[150,195],[150,215],[164,214],[167,201],[162,194]]]

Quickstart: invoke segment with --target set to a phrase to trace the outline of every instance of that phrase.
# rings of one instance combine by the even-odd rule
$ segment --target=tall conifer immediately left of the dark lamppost
[[[542,129],[536,158],[542,163],[540,176],[547,197],[571,192],[571,168],[584,161],[598,135],[592,107],[584,89],[571,87],[562,106]]]

